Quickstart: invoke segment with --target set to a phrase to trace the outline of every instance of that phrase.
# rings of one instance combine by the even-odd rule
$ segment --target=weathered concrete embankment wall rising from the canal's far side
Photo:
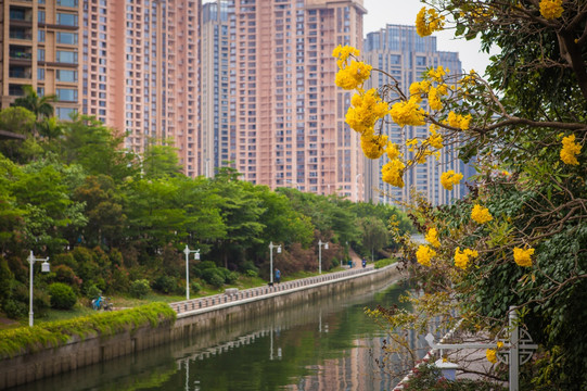
[[[143,327],[115,336],[93,336],[84,340],[75,338],[58,348],[0,358],[0,390],[136,353],[222,325],[277,313],[320,298],[340,297],[344,295],[343,293],[384,287],[397,275],[398,272],[393,265],[349,278],[181,313],[178,314],[175,325],[162,324],[156,328]]]

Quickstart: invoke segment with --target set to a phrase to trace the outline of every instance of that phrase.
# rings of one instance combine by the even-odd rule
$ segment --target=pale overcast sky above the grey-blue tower
[[[419,0],[363,0],[363,7],[367,9],[367,15],[363,17],[365,35],[385,27],[387,23],[413,26],[416,15],[423,5]],[[489,55],[480,53],[478,40],[452,39],[452,30],[437,31],[433,36],[437,37],[438,50],[459,52],[459,59],[465,71],[473,68],[483,74]]]

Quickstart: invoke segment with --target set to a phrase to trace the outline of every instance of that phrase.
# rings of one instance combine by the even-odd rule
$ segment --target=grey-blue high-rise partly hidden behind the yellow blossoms
[[[412,26],[387,25],[379,31],[369,33],[362,54],[367,63],[393,76],[405,91],[413,81],[422,79],[426,68],[442,65],[451,73],[459,73],[462,68],[457,52],[438,51],[436,37],[420,37]],[[366,88],[378,88],[393,81],[383,73],[373,72]],[[391,141],[404,146],[401,152],[407,159],[410,159],[411,152],[405,147],[406,140],[416,137],[425,139],[430,135],[428,126],[399,127],[391,121],[383,125],[383,133]],[[470,176],[470,168],[458,160],[456,146],[443,148],[439,160],[430,156],[425,164],[408,169],[404,175],[404,188],[392,187],[381,179],[381,166],[385,163],[385,155],[377,161],[366,160],[366,200],[388,204],[410,202],[410,189],[416,188],[432,204],[438,205],[459,199],[467,191],[464,185],[456,186],[452,191],[441,186],[441,175],[448,169],[463,173],[464,179]]]

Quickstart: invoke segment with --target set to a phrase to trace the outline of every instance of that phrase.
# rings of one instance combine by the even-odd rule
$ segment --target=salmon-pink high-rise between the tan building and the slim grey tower
[[[178,149],[202,174],[199,0],[85,0],[84,113],[126,134],[125,148]]]

